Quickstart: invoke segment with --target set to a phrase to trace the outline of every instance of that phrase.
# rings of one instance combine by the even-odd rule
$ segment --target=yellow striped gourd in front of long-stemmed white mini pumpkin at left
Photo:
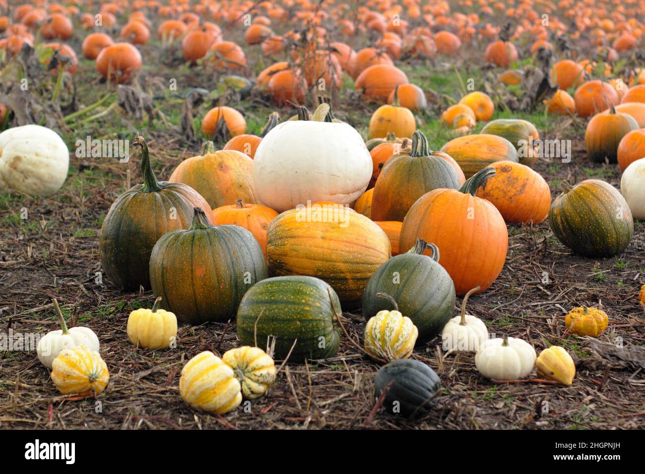
[[[64,395],[99,395],[110,381],[110,373],[97,351],[76,346],[54,359],[52,380]]]

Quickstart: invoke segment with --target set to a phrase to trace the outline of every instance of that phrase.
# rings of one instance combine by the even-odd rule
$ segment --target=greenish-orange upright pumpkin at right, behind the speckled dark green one
[[[594,115],[587,124],[584,147],[589,159],[602,163],[607,158],[610,163],[617,163],[620,140],[637,128],[639,125],[631,115],[617,113],[611,104],[609,112]]]

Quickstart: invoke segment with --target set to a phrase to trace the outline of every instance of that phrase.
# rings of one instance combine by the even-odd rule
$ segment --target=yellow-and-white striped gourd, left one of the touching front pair
[[[181,370],[179,393],[190,406],[217,415],[235,410],[242,402],[233,369],[211,351],[188,360]]]

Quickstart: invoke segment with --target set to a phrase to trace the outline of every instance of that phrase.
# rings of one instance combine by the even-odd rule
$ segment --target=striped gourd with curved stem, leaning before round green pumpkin
[[[392,301],[394,311],[382,310],[370,318],[365,326],[365,350],[379,362],[407,359],[414,350],[419,330],[412,319],[402,315],[390,295],[377,293]]]

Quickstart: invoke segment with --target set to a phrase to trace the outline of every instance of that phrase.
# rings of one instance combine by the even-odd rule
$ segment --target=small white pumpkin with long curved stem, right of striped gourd
[[[488,339],[488,329],[484,321],[478,317],[466,314],[468,297],[480,287],[466,293],[461,303],[461,316],[454,317],[446,323],[441,332],[441,342],[444,351],[476,351],[480,344]]]

